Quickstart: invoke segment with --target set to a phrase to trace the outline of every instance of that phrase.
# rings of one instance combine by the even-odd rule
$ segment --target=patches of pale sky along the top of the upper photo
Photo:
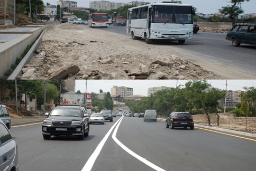
[[[92,1],[85,1],[85,0],[74,0],[77,2],[77,6],[84,6],[89,7],[89,2]],[[44,4],[50,3],[51,5],[57,5],[57,0],[43,0]],[[130,0],[112,0],[108,2],[116,2],[116,3],[129,3],[132,2]],[[142,1],[139,1],[142,2]],[[149,3],[161,3],[163,0],[145,0],[144,2]],[[218,9],[220,9],[222,6],[231,5],[230,0],[181,0],[182,4],[191,4],[194,7],[197,8],[197,12],[203,13],[203,14],[212,14],[217,13]],[[256,1],[251,0],[249,2],[242,3],[241,7],[244,10],[244,13],[256,13]]]

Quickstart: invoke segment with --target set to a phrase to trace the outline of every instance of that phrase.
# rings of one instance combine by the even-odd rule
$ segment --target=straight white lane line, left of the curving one
[[[122,119],[122,118],[120,118]],[[115,124],[111,127],[111,129],[109,129],[109,131],[107,132],[107,134],[105,135],[105,137],[102,139],[102,141],[100,141],[99,145],[97,146],[97,148],[94,150],[94,153],[90,156],[90,158],[87,160],[85,166],[83,167],[83,169],[81,171],[90,171],[93,168],[93,165],[95,163],[95,160],[97,159],[100,150],[102,150],[102,147],[104,146],[104,144],[106,143],[107,138],[109,137],[109,135],[111,134],[112,130],[114,129],[114,127],[116,126],[116,124],[120,121],[120,119],[118,119]]]

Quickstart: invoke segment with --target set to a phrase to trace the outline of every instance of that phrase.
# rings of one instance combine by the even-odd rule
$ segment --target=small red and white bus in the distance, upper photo
[[[89,27],[105,27],[108,26],[108,14],[107,13],[94,13],[88,15]]]

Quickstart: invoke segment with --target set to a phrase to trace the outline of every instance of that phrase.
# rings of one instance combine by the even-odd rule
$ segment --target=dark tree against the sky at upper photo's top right
[[[239,14],[243,14],[244,11],[241,8],[241,4],[243,2],[249,2],[250,0],[231,0],[229,3],[232,5],[222,6],[222,9],[218,9],[218,11],[224,15],[229,15],[228,18],[231,19],[232,25],[235,25],[235,16]]]

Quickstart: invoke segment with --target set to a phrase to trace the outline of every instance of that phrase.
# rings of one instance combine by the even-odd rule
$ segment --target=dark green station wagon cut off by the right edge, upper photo
[[[236,24],[227,33],[226,40],[232,42],[233,46],[241,43],[256,45],[256,24]]]

